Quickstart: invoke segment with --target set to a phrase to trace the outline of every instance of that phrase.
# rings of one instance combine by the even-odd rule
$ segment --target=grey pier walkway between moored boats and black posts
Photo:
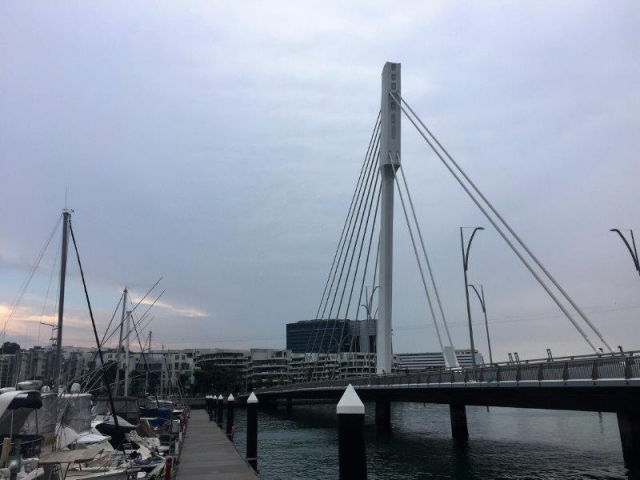
[[[178,480],[256,480],[258,476],[244,461],[205,410],[192,410],[180,454]]]

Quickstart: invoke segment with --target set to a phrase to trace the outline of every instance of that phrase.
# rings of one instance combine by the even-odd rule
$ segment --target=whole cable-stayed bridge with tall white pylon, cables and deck
[[[593,351],[592,354],[556,359],[549,355],[538,360],[480,364],[482,362],[475,355],[467,287],[472,362],[468,368],[459,365],[408,182],[401,168],[403,115],[562,311]],[[396,192],[446,365],[437,371],[398,373],[393,362],[392,273]],[[465,238],[461,229],[465,286],[469,251],[477,230]],[[360,318],[362,310],[364,318]],[[350,315],[355,316],[360,335],[354,335],[345,328],[347,323],[344,320]],[[380,113],[316,319],[324,327],[316,328],[308,337],[306,351],[310,353],[304,359],[306,374],[296,383],[259,389],[256,393],[261,399],[286,399],[289,404],[299,398],[337,400],[351,383],[363,400],[375,401],[376,422],[381,424],[391,421],[390,403],[393,401],[449,404],[453,436],[461,439],[468,437],[466,405],[613,412],[618,416],[625,461],[629,465],[640,465],[638,352],[613,351],[597,326],[432,134],[401,94],[401,67],[398,63],[387,63],[382,71]],[[372,325],[376,332],[375,344],[363,341],[369,337],[367,333]],[[337,368],[339,355],[346,358],[347,363],[364,363],[364,367]]]

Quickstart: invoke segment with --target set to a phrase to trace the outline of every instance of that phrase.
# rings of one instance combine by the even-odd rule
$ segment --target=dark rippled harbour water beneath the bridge
[[[391,430],[367,405],[370,479],[631,479],[614,414],[467,407],[469,441],[451,438],[446,405],[392,404]],[[244,454],[245,411],[236,411],[235,443]],[[335,405],[261,410],[263,480],[338,478]]]

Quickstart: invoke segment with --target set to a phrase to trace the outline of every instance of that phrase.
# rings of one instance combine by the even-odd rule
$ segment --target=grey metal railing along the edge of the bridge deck
[[[542,382],[571,380],[603,380],[603,379],[640,379],[640,352],[625,352],[607,356],[581,356],[558,360],[542,360],[536,363],[524,361],[519,363],[499,363],[491,366],[463,369],[441,369],[423,372],[392,373],[315,382],[293,383],[268,387],[262,390],[285,391],[311,388],[353,386],[388,386],[407,385],[421,386],[432,384],[466,384],[499,383],[499,382]]]

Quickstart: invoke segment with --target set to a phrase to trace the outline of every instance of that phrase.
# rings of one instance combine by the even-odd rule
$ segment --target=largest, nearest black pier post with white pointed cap
[[[364,404],[354,388],[344,391],[336,407],[340,480],[366,480],[367,448],[364,438]]]

